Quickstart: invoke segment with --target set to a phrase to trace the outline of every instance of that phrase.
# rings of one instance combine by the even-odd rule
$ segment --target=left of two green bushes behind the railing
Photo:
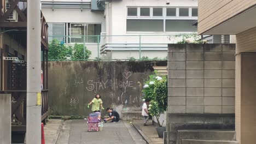
[[[49,59],[67,60],[72,56],[72,48],[61,44],[59,40],[54,39],[49,43]]]

